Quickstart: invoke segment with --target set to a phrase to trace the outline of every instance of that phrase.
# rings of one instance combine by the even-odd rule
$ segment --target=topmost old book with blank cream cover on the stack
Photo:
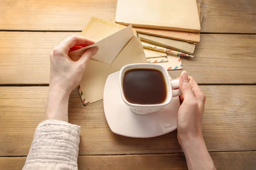
[[[195,0],[118,0],[116,23],[190,32],[201,29]]]

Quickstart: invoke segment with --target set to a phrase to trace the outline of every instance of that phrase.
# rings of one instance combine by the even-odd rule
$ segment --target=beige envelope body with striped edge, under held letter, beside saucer
[[[143,47],[136,36],[123,48],[112,65],[90,60],[79,83],[83,103],[86,105],[103,99],[105,82],[109,74],[119,71],[127,64],[146,62]]]

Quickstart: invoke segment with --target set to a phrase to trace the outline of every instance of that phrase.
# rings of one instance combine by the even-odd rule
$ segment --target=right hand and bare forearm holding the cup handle
[[[186,156],[189,170],[216,170],[202,135],[205,95],[192,77],[183,71],[179,77],[180,100],[178,141]]]

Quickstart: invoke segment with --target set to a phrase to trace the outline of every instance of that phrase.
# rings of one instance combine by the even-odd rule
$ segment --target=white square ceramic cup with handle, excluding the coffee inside
[[[155,105],[139,105],[139,104],[133,104],[128,102],[125,99],[124,91],[123,91],[123,86],[122,86],[122,79],[124,77],[124,74],[126,71],[134,68],[150,68],[150,69],[157,69],[163,73],[165,82],[166,82],[166,87],[167,87],[167,98],[166,101],[160,104],[155,104]],[[163,107],[168,105],[173,97],[181,95],[181,91],[179,89],[179,79],[171,80],[170,76],[168,74],[168,71],[166,68],[164,68],[160,64],[129,64],[125,65],[122,67],[120,74],[119,74],[119,86],[120,86],[120,92],[123,101],[128,105],[128,107],[133,111],[134,113],[145,115],[149,113],[153,113],[156,111],[160,111]],[[174,90],[176,89],[176,90]]]

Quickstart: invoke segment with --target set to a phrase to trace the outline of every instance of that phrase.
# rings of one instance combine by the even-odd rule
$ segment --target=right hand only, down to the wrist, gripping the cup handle
[[[202,136],[202,119],[204,113],[205,95],[193,77],[188,77],[183,71],[180,77],[180,109],[177,116],[177,138],[181,146]]]

